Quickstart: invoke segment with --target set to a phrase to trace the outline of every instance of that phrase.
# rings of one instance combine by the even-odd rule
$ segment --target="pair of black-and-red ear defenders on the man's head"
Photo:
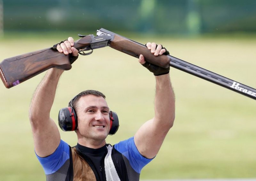
[[[76,111],[72,106],[72,101],[75,99],[74,97],[70,103],[71,107],[64,107],[60,109],[58,122],[59,126],[63,131],[74,131],[77,129],[77,116]],[[113,135],[117,132],[119,128],[119,120],[116,112],[110,111],[109,112],[109,119],[110,119],[110,135]]]

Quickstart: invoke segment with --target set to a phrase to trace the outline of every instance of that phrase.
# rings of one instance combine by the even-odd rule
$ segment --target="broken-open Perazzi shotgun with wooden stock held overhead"
[[[96,36],[81,34],[78,34],[78,36],[81,38],[75,41],[74,47],[78,49],[78,53],[81,55],[92,54],[94,49],[107,46],[136,58],[139,58],[139,55],[143,54],[145,61],[149,63],[163,68],[171,66],[180,69],[191,75],[243,94],[244,96],[256,99],[256,89],[252,87],[220,76],[171,55],[155,56],[145,45],[103,28],[97,30]],[[85,51],[90,52],[85,53]],[[53,67],[63,70],[71,69],[72,66],[69,62],[69,56],[59,53],[50,47],[8,58],[0,63],[0,76],[5,87],[11,88]]]

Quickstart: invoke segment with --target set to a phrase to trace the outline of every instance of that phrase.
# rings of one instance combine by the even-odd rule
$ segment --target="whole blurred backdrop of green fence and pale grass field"
[[[254,0],[0,0],[1,60],[105,28],[163,44],[182,60],[256,88]],[[61,77],[51,117],[77,93],[95,89],[118,113],[112,145],[154,116],[154,76],[109,47],[80,56]],[[28,108],[45,72],[6,89],[0,83],[0,180],[45,180]],[[176,119],[141,179],[256,178],[255,100],[171,68]],[[1,85],[2,84],[2,85]],[[61,132],[76,145],[76,134]]]

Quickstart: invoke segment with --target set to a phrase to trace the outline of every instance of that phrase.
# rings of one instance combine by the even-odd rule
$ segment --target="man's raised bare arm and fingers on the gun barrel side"
[[[163,54],[162,46],[155,43],[147,44],[148,49],[155,56]],[[140,55],[139,62],[145,64]],[[151,71],[151,70],[150,70]],[[155,74],[154,71],[152,71]],[[175,98],[168,73],[156,77],[155,116],[144,123],[134,135],[134,142],[140,154],[146,158],[153,158],[158,153],[164,138],[173,125],[175,118]]]

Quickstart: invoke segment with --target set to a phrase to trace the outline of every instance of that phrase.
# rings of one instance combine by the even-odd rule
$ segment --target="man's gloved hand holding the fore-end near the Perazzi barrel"
[[[162,45],[156,46],[156,43],[147,43],[146,46],[148,47],[149,50],[151,50],[151,53],[154,54],[155,56],[162,55],[162,54],[169,54],[169,52],[163,48]],[[140,54],[139,57],[139,62],[141,65],[146,67],[150,72],[154,73],[155,76],[161,76],[164,74],[168,74],[170,71],[170,67],[168,68],[162,68],[157,65],[154,65],[152,63],[148,63],[145,61],[144,56]]]

